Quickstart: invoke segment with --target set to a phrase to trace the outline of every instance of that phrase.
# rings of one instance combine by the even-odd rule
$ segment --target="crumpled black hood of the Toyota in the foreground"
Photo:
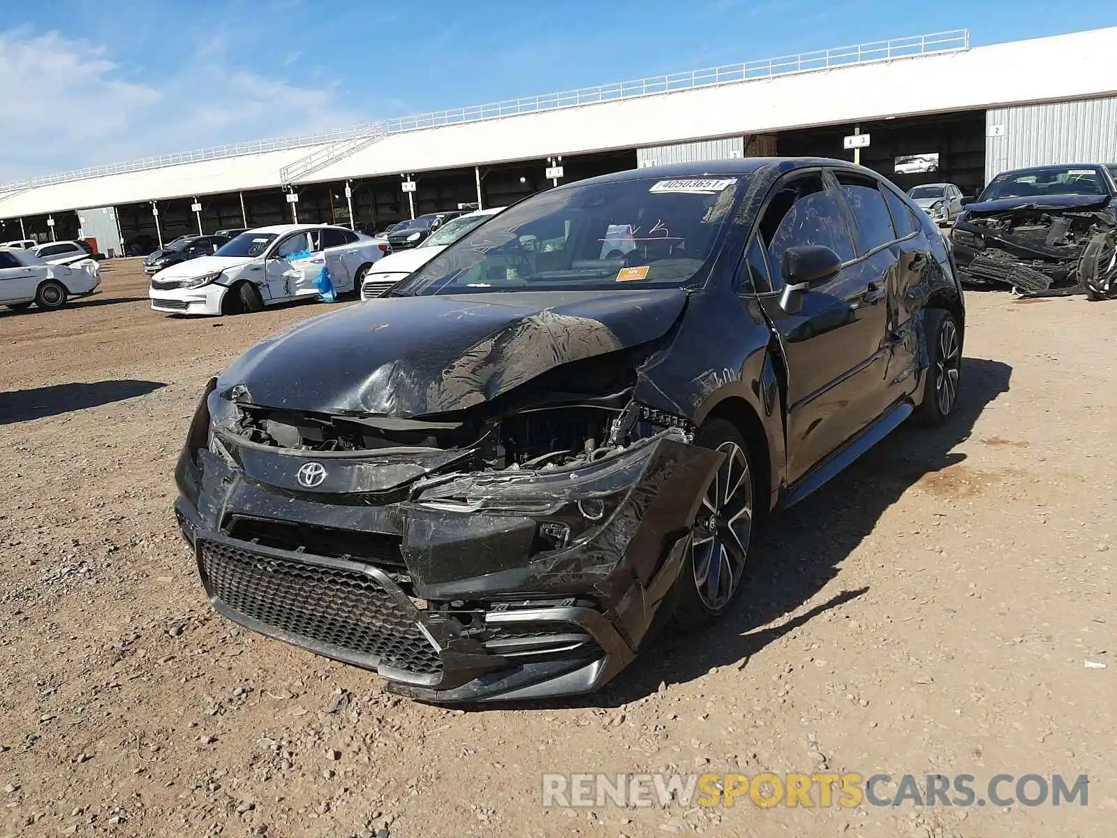
[[[661,337],[685,305],[680,288],[372,299],[264,340],[218,388],[244,384],[242,401],[308,412],[462,410],[561,364]]]

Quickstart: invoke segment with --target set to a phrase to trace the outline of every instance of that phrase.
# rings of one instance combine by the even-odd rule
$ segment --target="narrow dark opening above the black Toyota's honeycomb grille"
[[[407,566],[398,535],[247,517],[233,517],[228,532],[237,541],[249,541],[293,553],[305,551],[312,555],[366,562],[391,570]]]

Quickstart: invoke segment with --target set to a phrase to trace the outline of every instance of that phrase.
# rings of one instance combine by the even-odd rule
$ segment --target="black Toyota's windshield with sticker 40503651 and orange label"
[[[613,289],[704,280],[744,177],[542,192],[467,232],[393,295]]]

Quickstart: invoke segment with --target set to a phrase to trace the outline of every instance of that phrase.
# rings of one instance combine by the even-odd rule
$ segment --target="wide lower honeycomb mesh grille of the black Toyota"
[[[419,675],[442,672],[438,650],[420,631],[416,615],[372,577],[217,542],[201,542],[200,550],[214,597],[295,642]]]

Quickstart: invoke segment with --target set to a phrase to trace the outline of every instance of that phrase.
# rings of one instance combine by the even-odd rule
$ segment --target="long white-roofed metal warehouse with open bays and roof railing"
[[[848,156],[909,188],[1117,161],[1117,28],[970,46],[965,30],[96,166],[0,185],[0,240],[103,251],[290,220],[379,228],[676,161]],[[935,160],[910,171],[900,160]],[[917,168],[917,166],[916,166]],[[554,174],[555,172],[550,172]],[[413,183],[404,192],[402,184]]]

